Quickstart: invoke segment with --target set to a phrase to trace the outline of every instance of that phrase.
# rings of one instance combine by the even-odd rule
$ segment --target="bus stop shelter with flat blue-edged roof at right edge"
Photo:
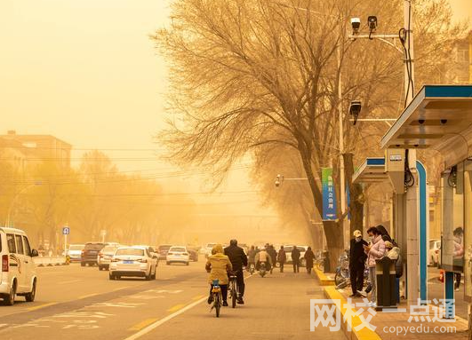
[[[441,267],[446,271],[444,297],[446,299],[454,297],[454,273],[463,272],[464,297],[470,302],[472,298],[472,85],[424,86],[382,138],[381,147],[390,151],[435,150],[441,154],[443,170]],[[405,172],[410,171],[411,164],[412,162],[405,167]],[[406,193],[407,201],[408,191],[410,189]],[[410,198],[414,200],[415,195],[418,196],[418,192],[412,190]],[[414,211],[410,211],[411,213],[406,209],[405,212],[407,229],[411,227],[409,224],[414,226],[415,219],[418,218],[412,216]],[[418,233],[418,229],[412,230],[411,233]],[[408,242],[409,249],[422,245],[421,240],[420,244],[414,244],[415,240],[408,238]],[[411,280],[412,278],[409,279]]]

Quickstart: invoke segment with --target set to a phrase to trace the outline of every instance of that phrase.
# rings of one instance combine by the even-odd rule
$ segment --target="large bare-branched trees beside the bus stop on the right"
[[[447,0],[413,4],[418,90],[440,81],[464,27],[452,25]],[[234,162],[251,154],[262,188],[260,179],[273,182],[277,169],[296,164],[287,173],[300,166],[309,199],[292,204],[300,216],[319,217],[321,169],[332,167],[339,183],[339,110],[348,112],[352,99],[362,100],[369,117],[390,118],[403,108],[402,57],[380,41],[348,39],[349,19],[360,13],[363,20],[377,15],[379,32],[403,27],[403,0],[175,1],[172,24],[154,36],[171,69],[170,128],[162,138],[172,159],[201,166],[218,185]],[[349,118],[344,115],[342,154],[348,183],[354,164],[381,154],[382,134],[375,126],[353,127]],[[362,188],[349,186],[351,225],[362,225]],[[323,222],[332,258],[343,248],[346,215],[338,216]]]

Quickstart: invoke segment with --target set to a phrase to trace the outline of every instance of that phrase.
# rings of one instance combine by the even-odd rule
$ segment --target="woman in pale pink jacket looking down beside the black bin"
[[[371,281],[372,295],[371,302],[367,304],[370,307],[377,306],[377,275],[375,273],[375,261],[385,256],[385,241],[375,226],[371,226],[367,230],[371,242],[368,246],[364,245],[364,252],[367,255],[367,266],[369,267],[369,281]]]

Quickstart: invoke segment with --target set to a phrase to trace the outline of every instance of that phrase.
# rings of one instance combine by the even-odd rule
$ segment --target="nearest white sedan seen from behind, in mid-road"
[[[151,247],[120,247],[111,259],[109,279],[120,280],[123,276],[133,276],[156,280],[157,265],[157,254]]]

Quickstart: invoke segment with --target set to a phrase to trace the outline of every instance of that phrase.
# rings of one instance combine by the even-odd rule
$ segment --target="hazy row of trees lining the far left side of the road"
[[[0,157],[0,221],[28,231],[40,244],[57,249],[61,228],[74,242],[100,240],[158,244],[189,224],[194,202],[165,194],[152,176],[117,170],[106,154],[84,154],[78,169],[58,162],[24,168]]]

